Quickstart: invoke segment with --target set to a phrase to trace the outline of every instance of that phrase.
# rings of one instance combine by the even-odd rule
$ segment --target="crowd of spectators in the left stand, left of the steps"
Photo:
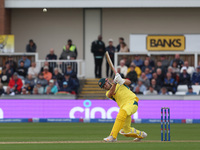
[[[36,52],[36,48],[36,44],[30,40],[26,52]],[[69,39],[59,59],[74,60],[76,57],[76,46]],[[46,60],[57,60],[53,49],[50,49]],[[6,89],[3,88],[5,85]],[[9,56],[0,74],[0,95],[77,94],[78,88],[77,68],[74,69],[71,63],[58,65],[46,61],[40,68],[36,62],[31,62],[26,54],[18,62]]]

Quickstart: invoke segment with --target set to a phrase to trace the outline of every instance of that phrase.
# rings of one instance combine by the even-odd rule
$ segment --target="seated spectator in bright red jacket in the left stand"
[[[22,80],[20,78],[18,78],[18,74],[15,72],[13,74],[13,77],[10,79],[10,81],[8,83],[6,93],[13,92],[13,94],[20,94],[22,86],[23,86]]]

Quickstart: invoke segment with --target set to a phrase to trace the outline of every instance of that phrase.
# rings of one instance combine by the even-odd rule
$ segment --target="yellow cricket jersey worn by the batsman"
[[[108,97],[108,93],[110,90],[106,92],[106,96]],[[125,84],[116,85],[115,94],[110,98],[117,102],[117,105],[121,108],[124,104],[136,101],[138,102],[138,97],[129,89],[129,87]]]

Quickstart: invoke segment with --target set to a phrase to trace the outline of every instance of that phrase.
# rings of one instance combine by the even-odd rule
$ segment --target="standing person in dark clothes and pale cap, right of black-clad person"
[[[110,59],[114,65],[114,55],[115,55],[115,47],[113,46],[113,39],[108,40],[108,46],[106,47],[106,51],[108,52]],[[108,61],[106,60],[106,76],[112,77],[113,71],[111,70]]]

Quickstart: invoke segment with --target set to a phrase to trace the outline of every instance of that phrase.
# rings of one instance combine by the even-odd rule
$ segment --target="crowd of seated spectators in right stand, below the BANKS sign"
[[[120,60],[118,73],[131,80],[131,89],[136,94],[172,95],[177,92],[178,85],[187,85],[186,95],[198,95],[192,91],[192,85],[200,84],[200,66],[189,66],[188,61],[180,59],[179,54],[173,60],[167,60],[165,55],[156,61],[146,56],[142,60],[136,55],[132,62]]]

